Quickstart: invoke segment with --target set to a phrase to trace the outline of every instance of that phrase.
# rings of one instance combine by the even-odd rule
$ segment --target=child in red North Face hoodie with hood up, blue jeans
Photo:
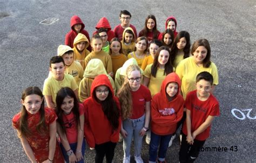
[[[180,85],[179,76],[172,72],[164,79],[160,92],[153,96],[151,103],[150,163],[156,162],[157,157],[158,162],[166,162],[165,155],[169,142],[176,131],[178,121],[183,116],[184,99],[179,94]]]

